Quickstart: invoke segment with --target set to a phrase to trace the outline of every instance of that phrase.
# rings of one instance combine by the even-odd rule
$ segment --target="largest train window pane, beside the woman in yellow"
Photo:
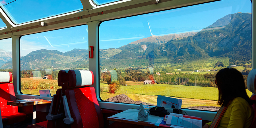
[[[217,111],[218,70],[251,70],[251,19],[250,0],[225,0],[102,22],[101,99]]]

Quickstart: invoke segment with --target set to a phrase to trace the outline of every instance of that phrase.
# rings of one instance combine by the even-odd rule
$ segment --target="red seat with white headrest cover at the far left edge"
[[[7,101],[16,100],[11,72],[0,72],[0,102],[3,125],[24,121],[32,113],[19,113],[17,106],[7,105]]]

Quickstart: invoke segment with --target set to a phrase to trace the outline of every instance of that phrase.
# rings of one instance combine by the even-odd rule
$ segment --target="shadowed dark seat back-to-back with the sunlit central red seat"
[[[58,85],[61,86],[61,89],[56,91],[56,94],[53,95],[51,107],[49,114],[46,116],[48,121],[43,121],[40,123],[28,125],[27,128],[69,128],[70,125],[67,125],[63,122],[65,117],[63,100],[62,96],[65,95],[65,90],[69,84],[69,75],[67,71],[61,70],[58,74]]]

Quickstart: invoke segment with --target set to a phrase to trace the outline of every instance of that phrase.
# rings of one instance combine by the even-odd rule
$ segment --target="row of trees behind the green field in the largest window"
[[[222,65],[219,63],[219,65]],[[216,66],[219,66],[216,65]],[[113,80],[113,76],[110,72],[104,72],[100,75],[100,80],[106,82],[109,85],[117,81],[116,85],[125,85],[125,81],[145,81],[145,80],[156,80],[158,84],[174,84],[174,85],[187,85],[187,86],[204,86],[204,87],[217,87],[215,84],[215,73],[207,74],[188,74],[188,73],[179,73],[179,74],[165,74],[161,75],[150,75],[150,73],[142,72],[139,69],[123,69],[123,70],[114,70],[117,74],[117,79]],[[121,73],[122,71],[122,73]],[[246,68],[241,72],[243,74],[245,84],[247,80],[247,75],[249,70]],[[120,84],[119,84],[120,83]],[[117,87],[119,88],[119,87]],[[118,90],[118,89],[117,89]],[[115,90],[115,91],[117,91]],[[113,91],[110,91],[113,93]]]

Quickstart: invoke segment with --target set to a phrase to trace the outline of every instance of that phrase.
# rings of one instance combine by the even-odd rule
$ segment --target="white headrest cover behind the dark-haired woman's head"
[[[256,94],[256,69],[252,69],[247,76],[247,88],[249,91]]]

